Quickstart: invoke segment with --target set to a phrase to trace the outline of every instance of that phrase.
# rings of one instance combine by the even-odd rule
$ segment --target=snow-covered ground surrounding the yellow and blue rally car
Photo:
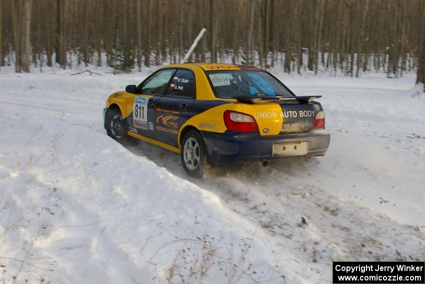
[[[425,259],[425,98],[414,75],[277,73],[320,99],[320,164],[196,180],[179,156],[106,136],[142,73],[0,73],[0,280],[329,283],[333,260]],[[33,71],[36,71],[35,69]],[[305,223],[301,219],[305,219]]]

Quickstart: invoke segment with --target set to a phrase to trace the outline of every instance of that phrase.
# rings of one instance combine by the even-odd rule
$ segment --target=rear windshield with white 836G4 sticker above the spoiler
[[[211,88],[218,98],[240,96],[283,96],[293,94],[277,79],[263,71],[208,71]]]

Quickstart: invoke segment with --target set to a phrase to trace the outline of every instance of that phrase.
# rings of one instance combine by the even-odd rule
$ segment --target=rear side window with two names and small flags
[[[194,98],[195,80],[193,73],[188,70],[177,70],[165,95]]]

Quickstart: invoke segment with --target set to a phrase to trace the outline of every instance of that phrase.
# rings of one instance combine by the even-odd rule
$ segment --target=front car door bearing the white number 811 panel
[[[155,108],[159,98],[167,90],[175,69],[163,69],[155,72],[138,87],[133,100],[128,101],[128,130],[143,136],[154,138]]]

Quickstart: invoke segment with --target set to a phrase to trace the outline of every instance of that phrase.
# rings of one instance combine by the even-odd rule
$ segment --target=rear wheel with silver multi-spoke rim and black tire
[[[203,166],[208,164],[202,136],[195,130],[187,132],[181,143],[181,164],[191,177],[202,178]]]

